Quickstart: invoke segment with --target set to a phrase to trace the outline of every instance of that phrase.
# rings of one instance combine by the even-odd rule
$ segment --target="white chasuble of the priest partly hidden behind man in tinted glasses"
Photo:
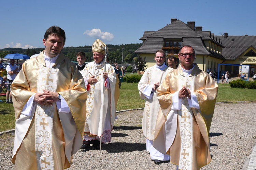
[[[155,70],[154,66],[149,67],[145,70],[138,84],[140,98],[143,100],[145,99],[145,108],[142,117],[142,132],[149,140],[154,139],[156,118],[160,105],[156,97],[156,91],[153,92],[151,99],[146,98],[142,91],[147,85],[153,85],[158,82],[160,85],[162,80],[172,70],[173,69],[168,66],[165,66],[163,70]]]

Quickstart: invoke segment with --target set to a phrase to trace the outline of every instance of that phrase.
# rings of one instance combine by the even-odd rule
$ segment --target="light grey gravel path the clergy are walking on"
[[[210,129],[212,161],[202,170],[239,170],[256,144],[256,103],[218,103]],[[171,163],[155,165],[146,151],[142,134],[143,110],[118,113],[112,142],[102,150],[79,150],[69,170],[80,169],[176,169]],[[14,134],[0,137],[0,169],[13,169]]]

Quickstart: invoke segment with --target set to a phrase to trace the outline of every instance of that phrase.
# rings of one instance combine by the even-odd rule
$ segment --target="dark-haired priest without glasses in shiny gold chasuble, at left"
[[[82,145],[86,86],[61,49],[65,32],[44,35],[38,57],[24,62],[11,85],[15,110],[14,169],[66,169]]]

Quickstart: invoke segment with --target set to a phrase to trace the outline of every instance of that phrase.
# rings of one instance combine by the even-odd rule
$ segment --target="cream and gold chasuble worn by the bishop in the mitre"
[[[95,62],[88,63],[83,70],[83,77],[90,78],[93,75],[98,81],[90,84],[87,91],[86,101],[86,123],[84,129],[84,140],[98,139],[102,137],[102,142],[111,141],[111,130],[113,130],[116,105],[115,100],[119,97],[119,88],[116,86],[117,76],[114,68],[106,64],[106,72],[110,89],[105,88],[104,62],[96,65]]]

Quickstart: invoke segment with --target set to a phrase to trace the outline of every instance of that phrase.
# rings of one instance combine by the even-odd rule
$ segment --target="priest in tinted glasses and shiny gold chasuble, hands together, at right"
[[[179,67],[156,90],[160,109],[153,146],[170,155],[177,169],[200,169],[211,162],[209,131],[218,85],[193,63],[191,46],[178,54]]]

